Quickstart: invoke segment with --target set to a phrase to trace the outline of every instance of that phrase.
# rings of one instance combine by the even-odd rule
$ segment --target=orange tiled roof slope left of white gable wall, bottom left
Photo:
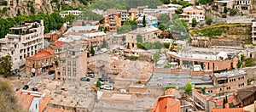
[[[19,104],[21,108],[28,111],[34,96],[17,92],[15,93],[15,97],[17,98],[17,104]]]

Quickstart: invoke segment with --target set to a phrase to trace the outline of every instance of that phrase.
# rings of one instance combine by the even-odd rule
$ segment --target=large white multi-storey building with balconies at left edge
[[[30,57],[44,48],[44,21],[26,21],[9,29],[9,34],[0,39],[0,52],[10,55],[12,69],[25,66]]]

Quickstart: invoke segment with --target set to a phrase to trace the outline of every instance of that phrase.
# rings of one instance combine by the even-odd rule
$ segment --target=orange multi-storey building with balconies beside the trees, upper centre
[[[109,26],[109,31],[117,31],[121,26],[121,14],[115,8],[109,8],[103,12],[103,18],[105,26]]]

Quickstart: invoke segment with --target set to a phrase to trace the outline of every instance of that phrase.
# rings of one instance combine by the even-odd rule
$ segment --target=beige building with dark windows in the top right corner
[[[236,0],[234,8],[239,10],[242,14],[249,14],[253,9],[253,0]]]

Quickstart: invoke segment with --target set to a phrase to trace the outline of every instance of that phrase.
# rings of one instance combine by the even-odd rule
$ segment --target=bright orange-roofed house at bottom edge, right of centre
[[[156,100],[152,112],[179,112],[180,101],[174,96],[161,96]]]

